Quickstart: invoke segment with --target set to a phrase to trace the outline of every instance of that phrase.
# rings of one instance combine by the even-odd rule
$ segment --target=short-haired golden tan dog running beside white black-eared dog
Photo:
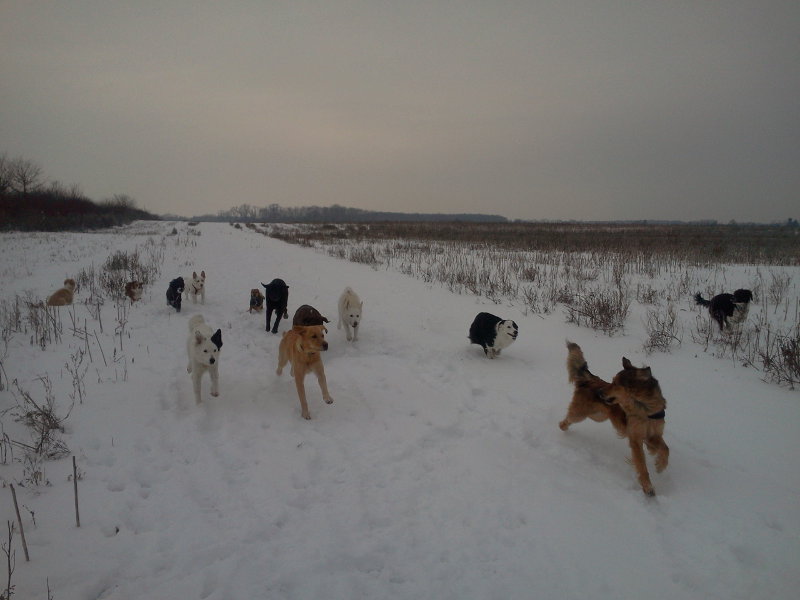
[[[320,352],[328,349],[325,341],[325,326],[310,325],[308,327],[292,327],[283,332],[278,348],[278,370],[283,373],[283,367],[289,362],[292,364],[291,374],[294,376],[297,395],[300,397],[300,412],[304,419],[310,419],[308,403],[306,402],[306,388],[303,380],[306,373],[313,371],[322,390],[322,398],[327,404],[333,403],[333,398],[328,393],[328,383],[325,380],[325,369],[322,366]]]

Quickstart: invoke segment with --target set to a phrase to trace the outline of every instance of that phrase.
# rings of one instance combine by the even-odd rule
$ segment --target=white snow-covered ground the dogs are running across
[[[645,356],[637,317],[608,337],[561,311],[528,314],[222,223],[0,234],[0,301],[44,298],[151,238],[164,252],[159,281],[124,323],[107,300],[101,332],[81,290],[59,309],[60,343],[0,340],[0,433],[27,439],[18,389],[42,398],[47,375],[66,413],[70,357],[86,345],[73,318],[92,334],[83,402],[59,436],[80,471],[80,528],[71,458],[40,465],[36,485],[39,467],[3,444],[0,508],[16,521],[13,483],[31,556],[16,532],[15,598],[44,600],[48,584],[55,600],[797,597],[797,391],[691,339]],[[205,305],[168,308],[167,282],[201,269]],[[247,312],[249,290],[275,277],[290,286],[290,317],[312,304],[331,319],[323,358],[335,401],[324,404],[309,377],[311,421],[288,370],[275,375],[279,336]],[[336,329],[347,285],[364,300],[356,343]],[[694,318],[688,298],[682,308]],[[520,327],[493,361],[466,339],[483,310]],[[185,348],[197,313],[224,343],[220,396],[205,378],[199,406]],[[649,463],[655,498],[608,423],[559,430],[571,395],[565,338],[600,376],[624,355],[661,382],[671,455],[664,473]]]

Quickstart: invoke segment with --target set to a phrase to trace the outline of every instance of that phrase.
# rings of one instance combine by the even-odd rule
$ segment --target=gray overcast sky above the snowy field
[[[800,217],[797,0],[0,0],[0,153],[100,200]]]

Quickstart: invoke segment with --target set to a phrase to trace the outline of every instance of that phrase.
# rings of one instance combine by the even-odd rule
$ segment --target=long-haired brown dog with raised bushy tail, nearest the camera
[[[567,416],[558,426],[566,431],[587,417],[594,421],[610,420],[617,434],[628,438],[631,461],[642,491],[655,496],[642,445],[656,456],[657,472],[667,468],[669,448],[663,438],[667,401],[661,395],[658,380],[650,373],[650,367],[634,367],[623,357],[622,371],[608,383],[589,371],[578,344],[567,342],[567,350],[567,374],[575,384],[575,392]]]

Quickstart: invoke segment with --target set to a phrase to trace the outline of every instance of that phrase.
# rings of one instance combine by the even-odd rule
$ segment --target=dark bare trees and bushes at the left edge
[[[157,218],[136,208],[130,196],[117,194],[96,203],[77,184],[46,182],[36,162],[0,154],[0,229],[80,231]]]

